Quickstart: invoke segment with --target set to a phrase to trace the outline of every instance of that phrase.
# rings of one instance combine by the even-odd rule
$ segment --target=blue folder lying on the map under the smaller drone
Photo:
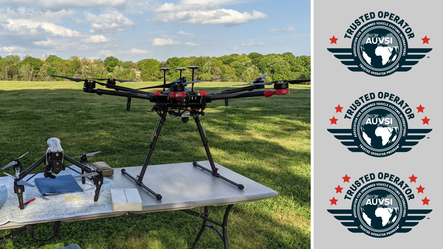
[[[72,175],[51,178],[36,178],[35,184],[43,196],[83,191]]]

